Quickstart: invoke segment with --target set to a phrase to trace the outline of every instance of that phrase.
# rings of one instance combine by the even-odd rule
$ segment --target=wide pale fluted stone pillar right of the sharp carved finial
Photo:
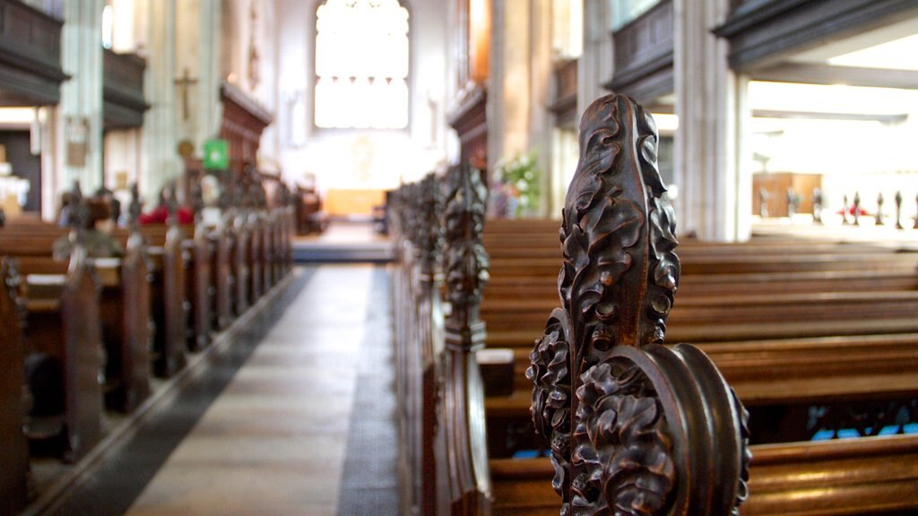
[[[751,179],[740,138],[749,115],[745,81],[727,65],[728,43],[711,33],[728,0],[676,0],[674,15],[678,230],[709,241],[744,241],[751,223]]]

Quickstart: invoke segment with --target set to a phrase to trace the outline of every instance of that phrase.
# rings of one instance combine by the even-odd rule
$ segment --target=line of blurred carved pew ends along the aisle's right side
[[[405,499],[420,514],[485,515],[491,490],[474,350],[484,337],[476,306],[487,260],[478,261],[481,246],[474,235],[484,217],[486,189],[477,174],[456,168],[444,190],[444,225],[450,230],[444,235],[442,275],[440,180],[428,176],[394,196],[401,258],[395,292],[404,309],[396,335]],[[452,307],[446,320],[440,308],[444,280]]]

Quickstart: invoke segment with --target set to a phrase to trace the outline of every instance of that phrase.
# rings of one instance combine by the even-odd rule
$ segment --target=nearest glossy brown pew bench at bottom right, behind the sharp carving
[[[752,447],[742,514],[912,514],[918,508],[918,436]],[[547,458],[491,459],[494,516],[556,516]]]

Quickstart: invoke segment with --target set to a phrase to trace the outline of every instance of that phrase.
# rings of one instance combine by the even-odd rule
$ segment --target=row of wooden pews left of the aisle
[[[89,257],[84,230],[28,214],[0,229],[0,514],[27,502],[30,444],[79,460],[103,437],[103,410],[138,409],[151,376],[180,372],[291,270],[291,208],[224,210],[216,227],[199,216],[140,225],[135,188],[131,212],[112,233],[118,258]],[[62,237],[65,261],[51,252]]]

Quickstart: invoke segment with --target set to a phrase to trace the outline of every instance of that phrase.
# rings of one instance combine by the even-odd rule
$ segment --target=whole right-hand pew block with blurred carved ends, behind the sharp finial
[[[444,206],[460,184],[465,208]],[[525,372],[560,306],[561,223],[486,221],[483,189],[456,169],[395,196],[405,495],[421,514],[557,514]],[[790,237],[676,252],[666,342],[706,353],[749,412],[741,513],[918,510],[918,253]]]

